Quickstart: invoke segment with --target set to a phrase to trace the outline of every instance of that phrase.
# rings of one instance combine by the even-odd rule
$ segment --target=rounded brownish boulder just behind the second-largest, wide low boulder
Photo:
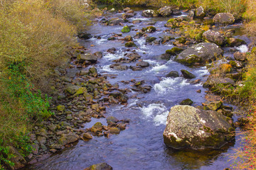
[[[216,45],[224,45],[225,37],[221,35],[218,31],[208,30],[203,33],[203,38],[210,42],[214,42]]]

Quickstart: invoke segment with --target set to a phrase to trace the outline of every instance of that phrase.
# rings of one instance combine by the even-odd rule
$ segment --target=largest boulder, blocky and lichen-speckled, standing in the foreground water
[[[174,106],[167,118],[164,143],[176,149],[220,148],[233,140],[234,128],[217,111]]]

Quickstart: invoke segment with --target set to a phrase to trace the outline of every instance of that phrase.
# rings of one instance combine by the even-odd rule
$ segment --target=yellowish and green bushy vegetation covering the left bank
[[[0,1],[0,169],[14,165],[10,147],[31,152],[31,128],[52,115],[41,90],[88,23],[80,0]]]

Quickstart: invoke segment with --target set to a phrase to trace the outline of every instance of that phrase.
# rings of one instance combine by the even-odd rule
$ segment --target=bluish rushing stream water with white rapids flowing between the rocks
[[[137,23],[133,29],[146,27],[146,23],[156,22],[157,29],[155,33],[149,33],[149,36],[156,38],[170,35],[163,33],[166,28],[164,24],[169,18],[144,18],[142,9],[134,8],[137,15],[129,18],[129,21],[135,19],[142,20]],[[121,16],[122,13],[112,13],[113,17]],[[182,15],[186,15],[183,13]],[[174,16],[176,17],[176,16]],[[132,25],[132,23],[127,23]],[[232,28],[232,27],[231,27]],[[103,57],[98,60],[95,67],[102,75],[112,74],[108,78],[111,84],[119,84],[120,89],[131,89],[131,84],[123,84],[121,81],[144,80],[145,84],[152,87],[146,94],[132,91],[129,96],[137,94],[137,98],[130,98],[128,105],[110,106],[107,108],[106,116],[113,115],[119,120],[128,118],[130,120],[127,129],[119,135],[107,137],[93,137],[92,140],[85,142],[80,140],[74,147],[63,150],[63,152],[54,154],[40,164],[31,167],[31,169],[85,169],[92,164],[106,162],[113,169],[224,169],[230,167],[232,161],[229,161],[233,149],[238,148],[240,143],[238,137],[236,142],[231,142],[221,149],[210,149],[203,151],[178,151],[167,148],[164,145],[163,132],[166,123],[166,117],[172,106],[177,105],[183,99],[191,98],[193,106],[201,106],[205,101],[206,90],[202,84],[190,84],[182,77],[165,78],[170,71],[186,69],[196,75],[196,79],[206,80],[209,73],[206,67],[186,67],[183,64],[173,60],[159,60],[157,56],[164,54],[166,50],[174,47],[172,43],[165,45],[146,45],[145,38],[134,39],[138,48],[134,48],[142,59],[149,62],[150,67],[142,71],[134,72],[132,69],[117,71],[110,69],[112,60],[124,57],[127,47],[121,40],[109,41],[111,35],[121,33],[122,26],[104,26],[102,23],[95,22],[89,33],[100,35],[101,39],[91,38],[90,40],[80,40],[82,45],[90,48],[90,52],[102,51]],[[134,36],[137,32],[132,30],[130,33],[123,33]],[[177,35],[170,35],[178,37]],[[247,41],[242,34],[237,35]],[[90,47],[90,45],[95,45]],[[110,54],[107,49],[117,48],[116,54]],[[237,47],[238,50],[247,50],[246,46]],[[232,57],[232,53],[225,49],[225,55]],[[127,64],[135,65],[134,63]],[[88,69],[88,68],[86,68]],[[74,71],[74,70],[73,70]],[[70,72],[73,72],[70,70]],[[201,89],[201,93],[196,91]],[[92,118],[90,123],[85,124],[85,128],[90,128],[96,122],[107,124],[104,118]]]

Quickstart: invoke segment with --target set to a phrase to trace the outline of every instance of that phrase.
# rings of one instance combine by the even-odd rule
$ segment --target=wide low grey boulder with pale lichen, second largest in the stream
[[[201,42],[181,52],[176,57],[176,61],[186,65],[205,64],[222,54],[223,50],[218,45],[210,42]]]

